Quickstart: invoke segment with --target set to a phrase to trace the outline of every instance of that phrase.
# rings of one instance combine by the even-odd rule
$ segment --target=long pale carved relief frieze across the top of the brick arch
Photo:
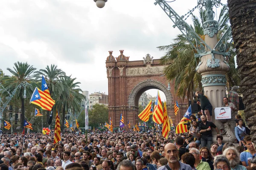
[[[156,66],[156,67],[143,67],[143,68],[127,68],[126,76],[140,76],[148,74],[163,74],[163,69],[166,66]]]

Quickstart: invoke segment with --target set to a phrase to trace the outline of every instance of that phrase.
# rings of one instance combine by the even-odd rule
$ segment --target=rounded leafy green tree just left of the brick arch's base
[[[99,127],[100,123],[108,122],[108,108],[105,105],[95,104],[88,111],[89,126]]]

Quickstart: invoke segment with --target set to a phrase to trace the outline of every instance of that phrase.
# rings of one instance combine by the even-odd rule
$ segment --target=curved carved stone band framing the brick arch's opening
[[[137,85],[134,86],[134,88],[131,90],[131,93],[129,94],[128,97],[128,105],[129,106],[133,106],[134,104],[134,99],[136,97],[136,95],[138,94],[139,91],[141,91],[143,88],[147,87],[147,86],[154,86],[158,89],[160,89],[161,91],[163,91],[163,93],[166,96],[166,100],[167,100],[167,104],[171,104],[173,102],[172,99],[172,94],[171,92],[167,89],[166,85],[163,85],[163,83],[158,82],[156,80],[145,80],[143,82],[138,83]]]

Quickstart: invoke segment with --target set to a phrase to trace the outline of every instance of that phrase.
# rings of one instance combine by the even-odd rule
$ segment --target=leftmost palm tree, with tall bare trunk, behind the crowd
[[[34,88],[36,87],[35,80],[33,79],[35,75],[33,72],[36,70],[32,65],[29,65],[27,62],[15,62],[13,69],[7,68],[7,70],[12,74],[12,76],[4,76],[1,79],[3,86],[6,90],[14,91],[15,88],[20,85],[21,82],[27,82],[29,85],[26,87],[26,96],[30,99]],[[15,98],[21,100],[21,126],[23,126],[25,119],[25,107],[24,107],[24,87],[21,86],[17,89],[15,93]]]

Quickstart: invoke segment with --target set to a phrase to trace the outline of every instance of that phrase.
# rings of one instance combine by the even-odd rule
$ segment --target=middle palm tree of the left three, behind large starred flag
[[[36,79],[41,79],[42,75],[47,82],[50,95],[52,99],[56,100],[58,96],[64,91],[63,83],[61,83],[61,77],[64,77],[66,73],[57,68],[57,65],[47,65],[45,69],[35,71]],[[49,120],[49,111],[47,111],[47,120]]]

